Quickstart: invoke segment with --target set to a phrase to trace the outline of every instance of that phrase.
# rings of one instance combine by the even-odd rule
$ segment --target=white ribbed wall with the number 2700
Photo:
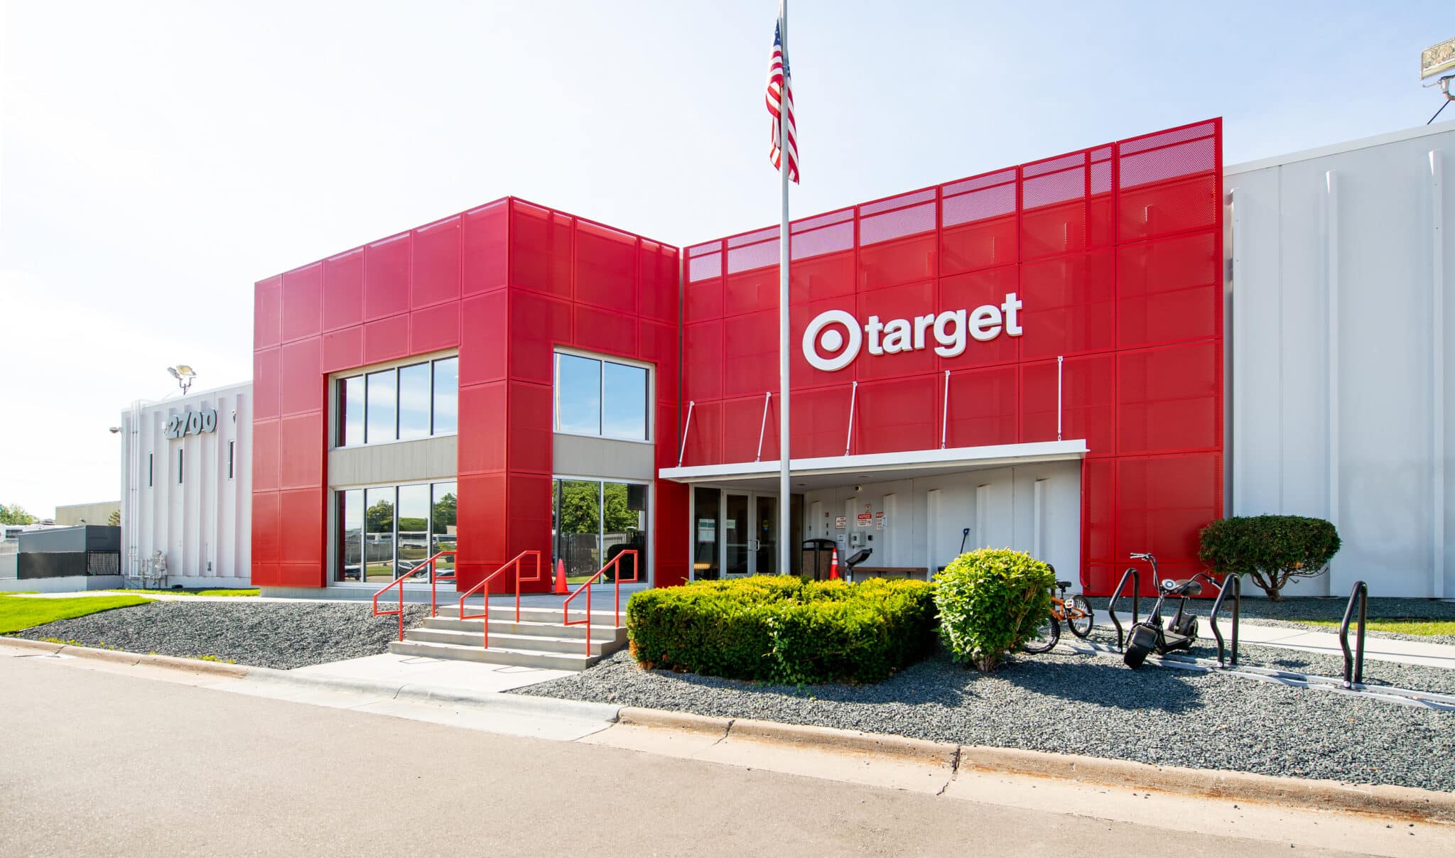
[[[217,429],[179,439],[164,436],[167,417],[217,410]],[[169,585],[247,586],[252,551],[252,384],[234,384],[156,403],[121,414],[121,563],[138,576],[162,551]],[[227,476],[227,442],[233,477]],[[178,484],[178,451],[183,451]],[[147,486],[147,455],[153,480]]]

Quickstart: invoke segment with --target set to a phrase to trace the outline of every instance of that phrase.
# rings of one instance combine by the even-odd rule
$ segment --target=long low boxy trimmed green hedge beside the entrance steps
[[[803,685],[879,682],[934,649],[934,586],[757,576],[634,593],[631,654],[647,669]]]

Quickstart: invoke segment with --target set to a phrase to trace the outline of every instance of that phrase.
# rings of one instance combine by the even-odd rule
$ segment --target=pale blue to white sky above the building
[[[509,193],[777,221],[774,0],[12,0],[0,502],[121,494],[134,398],[252,374],[252,284]],[[1423,125],[1438,3],[794,0],[794,215],[1224,116],[1225,163]],[[1445,118],[1455,118],[1455,108]]]

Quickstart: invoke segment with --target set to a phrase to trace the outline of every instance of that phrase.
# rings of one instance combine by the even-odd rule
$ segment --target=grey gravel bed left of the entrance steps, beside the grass
[[[419,624],[428,612],[425,605],[404,605],[404,627]],[[374,617],[368,604],[170,601],[58,620],[17,634],[291,669],[383,653],[399,637],[399,618]]]

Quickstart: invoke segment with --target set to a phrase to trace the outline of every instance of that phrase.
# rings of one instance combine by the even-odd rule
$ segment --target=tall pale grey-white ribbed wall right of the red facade
[[[1227,170],[1232,513],[1343,538],[1293,595],[1455,596],[1452,169],[1455,122]]]

